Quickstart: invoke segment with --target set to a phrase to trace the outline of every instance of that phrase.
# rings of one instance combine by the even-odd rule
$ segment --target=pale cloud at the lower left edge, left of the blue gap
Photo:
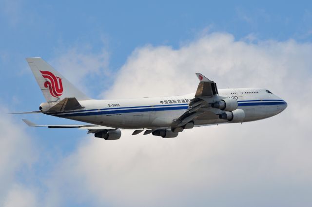
[[[0,113],[0,205],[12,206],[13,197],[23,193],[18,178],[26,177],[31,171],[38,150],[20,121],[13,121],[3,107]],[[25,199],[27,197],[28,194]],[[16,199],[16,202],[20,201],[20,198]]]

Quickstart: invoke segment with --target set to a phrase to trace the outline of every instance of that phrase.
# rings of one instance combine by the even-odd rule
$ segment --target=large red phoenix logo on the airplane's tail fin
[[[63,94],[63,85],[62,85],[62,79],[60,77],[56,77],[52,72],[50,71],[41,71],[42,77],[48,79],[46,82],[44,82],[44,87],[49,87],[50,94],[53,97],[58,98]]]

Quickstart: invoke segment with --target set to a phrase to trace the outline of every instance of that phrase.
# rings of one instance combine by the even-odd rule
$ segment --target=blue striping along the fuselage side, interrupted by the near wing
[[[275,102],[267,102],[267,101],[275,101]],[[238,106],[284,105],[284,104],[287,104],[283,100],[262,100],[262,101],[251,100],[251,101],[238,101],[238,102],[239,102]],[[241,102],[253,102],[253,103],[241,103]],[[159,106],[165,106],[165,107],[159,107]],[[77,117],[77,116],[94,116],[94,115],[103,115],[103,114],[123,114],[123,113],[133,113],[133,112],[185,110],[187,108],[188,108],[188,104],[171,104],[171,105],[133,106],[133,107],[100,109],[102,111],[100,111],[98,109],[90,109],[90,110],[67,112],[67,113],[62,112],[63,114],[54,113],[51,115],[58,116],[58,117]],[[87,111],[89,111],[89,112],[87,112]],[[81,113],[81,112],[84,112],[84,113]]]

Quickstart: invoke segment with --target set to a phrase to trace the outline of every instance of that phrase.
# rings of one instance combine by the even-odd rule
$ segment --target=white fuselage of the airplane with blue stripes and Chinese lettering
[[[238,108],[245,111],[243,122],[272,117],[287,107],[284,100],[264,88],[219,89],[219,95],[237,100]],[[170,128],[172,122],[186,112],[194,96],[195,93],[171,97],[79,101],[84,108],[50,115],[114,128]],[[195,126],[233,122],[218,119],[215,114],[222,111],[214,110],[211,116],[196,118]]]

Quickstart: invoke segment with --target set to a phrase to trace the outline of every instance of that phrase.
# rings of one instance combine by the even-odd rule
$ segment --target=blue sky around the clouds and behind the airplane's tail
[[[308,0],[0,0],[0,4],[0,105],[8,111],[37,110],[44,102],[26,57],[40,56],[51,64],[55,63],[58,69],[57,66],[63,64],[59,62],[63,56],[82,55],[90,59],[104,53],[105,60],[99,60],[96,72],[90,70],[90,74],[79,76],[83,80],[80,87],[86,87],[88,95],[98,98],[114,85],[115,75],[133,57],[134,51],[147,45],[154,48],[166,46],[175,51],[201,36],[214,33],[230,34],[234,41],[252,46],[290,39],[298,45],[309,46],[312,41],[312,2]],[[80,62],[76,60],[75,63]],[[66,69],[61,71],[66,73]],[[311,75],[311,70],[308,74]],[[43,124],[73,123],[43,115],[18,115],[12,119],[22,125],[20,119],[23,118]],[[36,155],[37,161],[32,162],[31,170],[18,168],[14,172],[16,180],[43,190],[47,187],[41,180],[49,178],[49,172],[55,169],[59,160],[76,152],[87,139],[84,131],[74,129],[23,130],[31,137],[36,149],[38,147],[36,153],[39,155]],[[84,206],[92,198],[81,202],[69,198],[61,205]],[[96,202],[91,204],[97,206]],[[106,203],[107,206],[110,204]]]

